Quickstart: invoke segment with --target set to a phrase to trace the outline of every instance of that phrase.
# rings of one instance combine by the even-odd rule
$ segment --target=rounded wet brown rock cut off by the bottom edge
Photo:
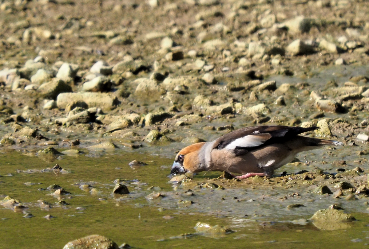
[[[119,246],[110,239],[95,234],[70,241],[63,249],[119,249]]]

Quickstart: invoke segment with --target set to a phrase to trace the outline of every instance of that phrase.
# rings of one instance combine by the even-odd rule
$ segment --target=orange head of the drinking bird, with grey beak
[[[205,143],[192,144],[179,151],[176,159],[174,160],[170,173],[174,175],[183,174],[186,172],[196,173],[202,171],[199,151],[204,144]]]

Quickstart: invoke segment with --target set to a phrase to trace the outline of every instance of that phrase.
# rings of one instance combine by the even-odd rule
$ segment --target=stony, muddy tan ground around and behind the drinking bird
[[[188,200],[148,201],[191,206],[192,191],[241,187],[265,190],[234,199],[256,211],[317,194],[363,211],[349,203],[369,194],[368,11],[361,0],[0,0],[0,146],[174,157],[244,126],[320,126],[305,135],[344,148],[304,154],[272,179],[187,176],[174,192]]]

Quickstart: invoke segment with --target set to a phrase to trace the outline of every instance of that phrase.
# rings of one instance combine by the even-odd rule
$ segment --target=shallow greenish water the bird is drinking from
[[[90,234],[104,235],[118,245],[125,242],[134,248],[358,248],[369,243],[369,227],[366,227],[369,215],[363,213],[366,208],[363,207],[365,198],[341,203],[346,211],[359,212],[352,213],[358,221],[350,222],[345,229],[319,230],[311,223],[299,225],[291,221],[308,219],[314,210],[339,203],[327,195],[311,194],[297,199],[297,202],[302,201],[306,206],[294,210],[285,208],[287,203],[296,203],[293,198],[284,201],[268,200],[268,197],[265,197],[265,201],[256,199],[268,191],[271,197],[295,192],[289,189],[258,190],[246,186],[225,187],[224,190],[194,189],[194,196],[185,196],[183,192],[186,189],[176,185],[173,188],[168,183],[167,175],[172,159],[122,151],[102,157],[86,155],[91,154],[62,156],[60,160],[50,162],[34,153],[1,154],[0,175],[3,177],[0,178],[0,194],[20,200],[29,207],[27,211],[34,217],[23,218],[22,212],[15,213],[1,206],[0,248],[62,248],[68,241]],[[128,162],[133,159],[148,165],[133,170],[128,166]],[[22,173],[28,169],[52,167],[55,163],[70,173]],[[288,167],[282,169],[289,170]],[[14,176],[6,176],[8,173]],[[218,172],[206,176],[201,174],[195,176],[195,180],[219,175]],[[113,181],[117,178],[126,180],[130,194],[111,194]],[[26,182],[42,184],[26,186]],[[83,191],[76,185],[81,183],[97,188],[99,194],[90,194],[91,188],[87,192]],[[58,199],[50,195],[54,190],[46,189],[52,184],[58,184],[71,193],[61,196],[69,205],[55,204]],[[148,190],[151,186],[155,188]],[[153,191],[166,196],[146,200],[145,196]],[[221,200],[221,196],[225,200]],[[241,201],[232,196],[237,196]],[[251,197],[255,199],[252,203],[247,201]],[[52,208],[49,211],[41,210],[37,202],[39,199],[51,203]],[[193,199],[194,204],[190,207],[179,206],[179,199]],[[313,199],[311,206],[306,201],[308,199]],[[43,217],[47,214],[56,218],[46,220]],[[166,220],[163,218],[166,215],[173,218]],[[234,232],[210,237],[195,234],[194,227],[199,221],[227,226]],[[180,236],[189,233],[192,236]]]

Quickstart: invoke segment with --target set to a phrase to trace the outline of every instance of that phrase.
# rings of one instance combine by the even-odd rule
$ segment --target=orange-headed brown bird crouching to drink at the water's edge
[[[299,134],[320,127],[252,126],[231,131],[220,138],[189,145],[178,152],[171,175],[201,171],[225,171],[246,179],[271,177],[302,151],[324,145],[343,145],[339,141],[304,137]]]

